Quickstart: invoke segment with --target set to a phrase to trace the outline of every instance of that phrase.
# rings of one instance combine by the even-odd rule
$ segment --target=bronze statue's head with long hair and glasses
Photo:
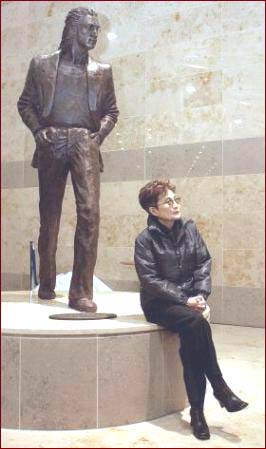
[[[99,33],[98,16],[93,9],[74,8],[69,11],[59,48],[63,52],[71,52],[74,42],[80,47],[92,50]]]

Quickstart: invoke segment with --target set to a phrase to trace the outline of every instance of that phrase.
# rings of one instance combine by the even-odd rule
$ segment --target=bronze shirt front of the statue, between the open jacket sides
[[[60,62],[53,107],[46,126],[93,129],[87,82],[85,67]]]

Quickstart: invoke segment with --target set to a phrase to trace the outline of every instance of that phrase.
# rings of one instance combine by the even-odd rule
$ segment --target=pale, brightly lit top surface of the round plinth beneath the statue
[[[57,292],[52,301],[40,300],[37,292],[2,292],[2,330],[8,335],[105,335],[157,330],[159,326],[145,320],[139,293],[95,292],[98,313],[115,313],[109,320],[53,320],[50,315],[78,313],[68,308],[66,293]],[[204,315],[209,317],[207,307]]]

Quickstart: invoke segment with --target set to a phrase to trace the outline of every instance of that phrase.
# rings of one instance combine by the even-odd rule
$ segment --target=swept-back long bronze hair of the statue
[[[67,14],[61,43],[59,45],[59,48],[64,53],[71,52],[72,44],[76,36],[76,27],[79,19],[83,16],[88,15],[98,18],[98,15],[93,9],[83,7],[71,9]]]

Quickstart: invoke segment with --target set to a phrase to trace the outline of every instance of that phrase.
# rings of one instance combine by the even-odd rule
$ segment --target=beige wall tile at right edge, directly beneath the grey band
[[[263,174],[224,176],[223,204],[225,212],[245,213],[264,210],[265,178]]]

